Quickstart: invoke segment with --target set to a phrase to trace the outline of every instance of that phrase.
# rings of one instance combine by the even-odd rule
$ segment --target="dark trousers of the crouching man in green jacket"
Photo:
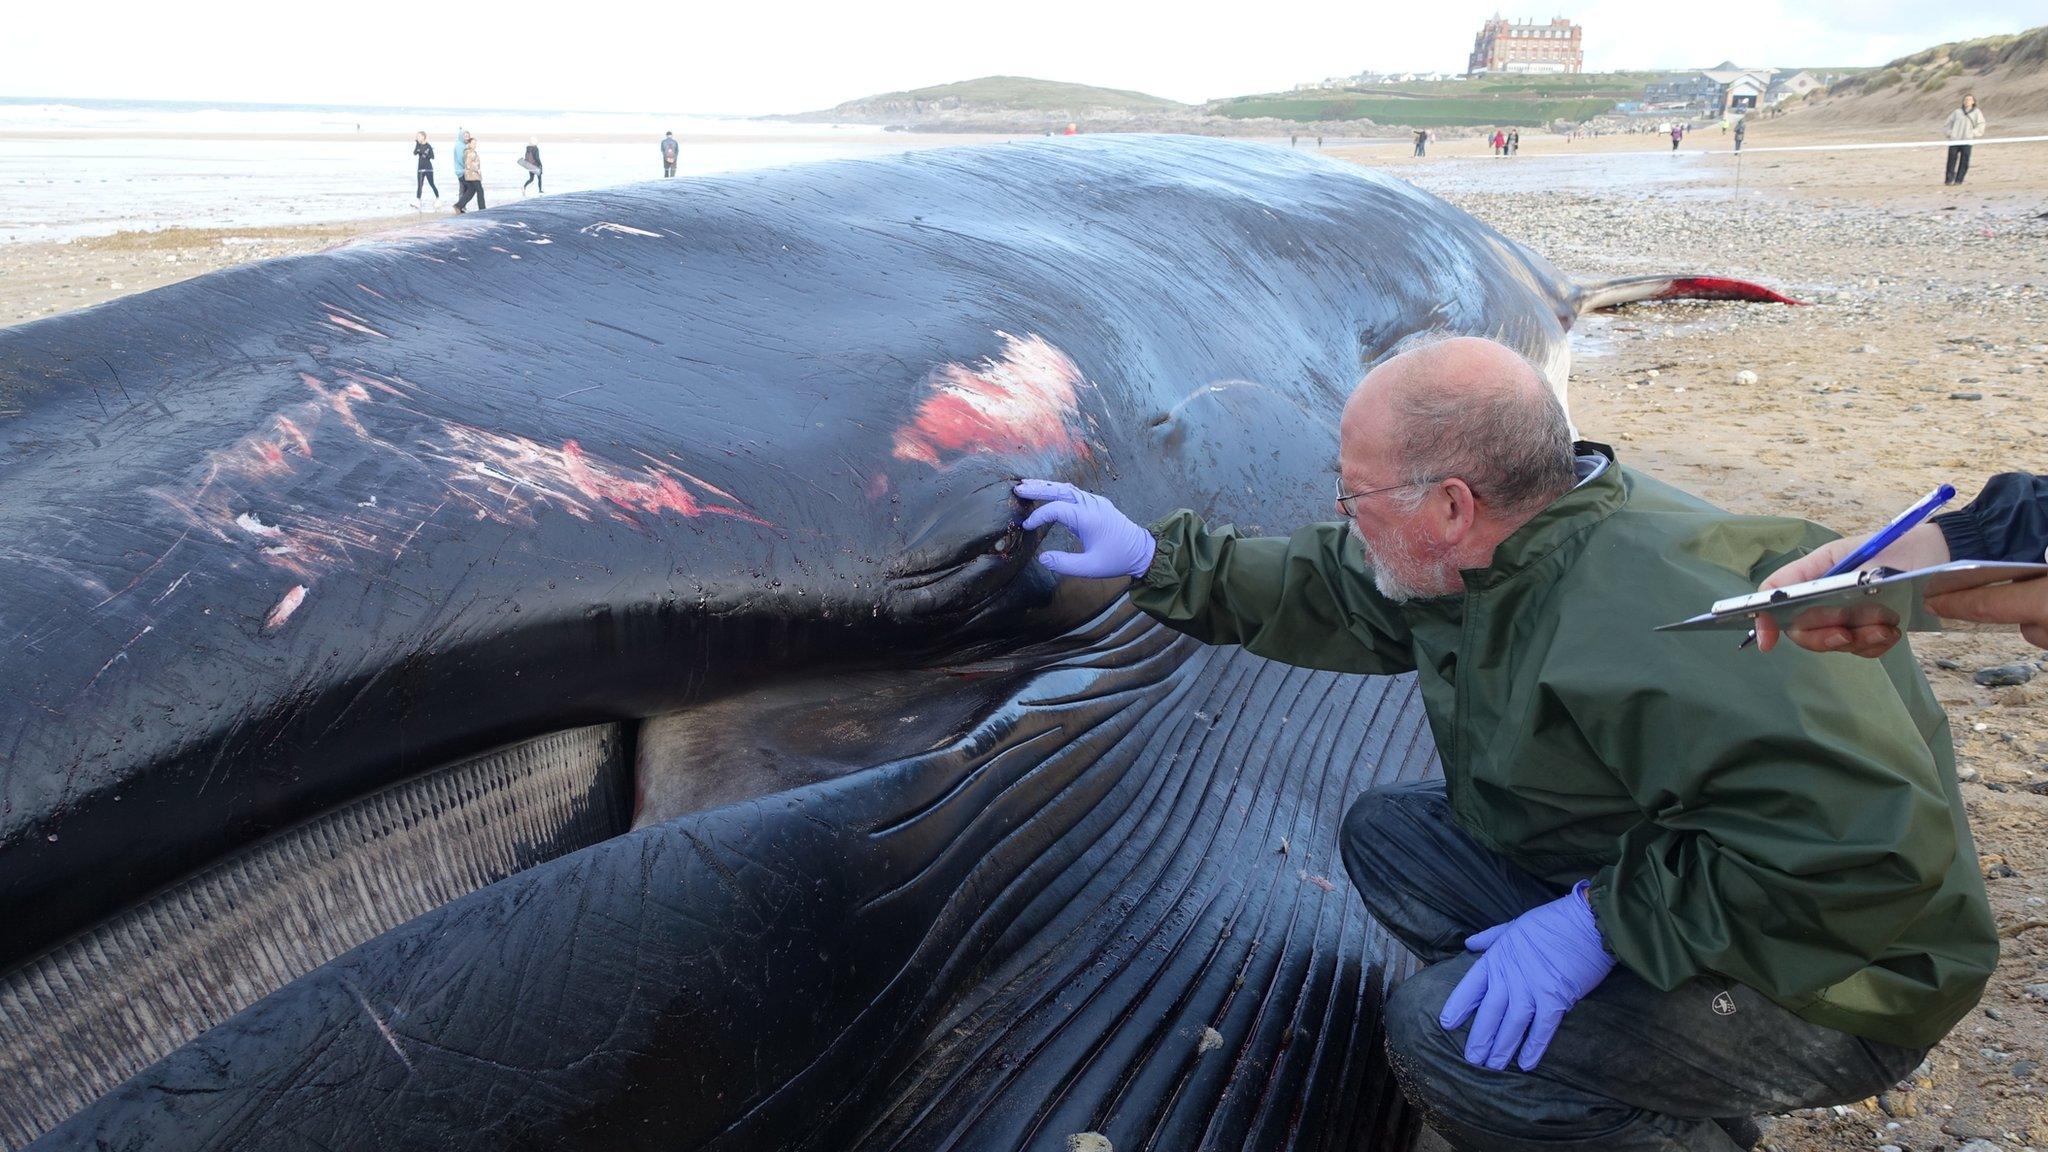
[[[1534,1072],[1466,1064],[1466,1029],[1438,1025],[1477,959],[1464,937],[1569,890],[1458,828],[1444,781],[1364,793],[1341,847],[1366,908],[1425,963],[1386,1002],[1395,1076],[1464,1152],[1735,1152],[1755,1136],[1747,1117],[1874,1097],[1925,1056],[1806,1023],[1743,984],[1659,992],[1616,965]]]

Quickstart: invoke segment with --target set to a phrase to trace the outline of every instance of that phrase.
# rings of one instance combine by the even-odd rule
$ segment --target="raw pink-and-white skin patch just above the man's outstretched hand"
[[[1038,336],[997,332],[1004,353],[977,365],[942,365],[930,396],[895,435],[895,457],[940,467],[969,453],[1065,453],[1087,457],[1071,420],[1079,416],[1079,365]]]

